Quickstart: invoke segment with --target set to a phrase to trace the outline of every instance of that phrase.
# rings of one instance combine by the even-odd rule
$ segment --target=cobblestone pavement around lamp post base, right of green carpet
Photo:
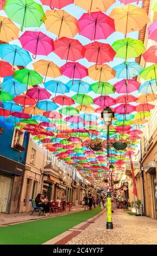
[[[114,210],[113,229],[106,229],[107,215],[100,216],[67,245],[157,245],[157,221],[145,216],[130,216]]]

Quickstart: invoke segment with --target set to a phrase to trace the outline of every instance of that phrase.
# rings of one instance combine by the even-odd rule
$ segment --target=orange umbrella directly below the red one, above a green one
[[[104,65],[93,65],[88,69],[88,75],[95,81],[106,82],[115,77],[116,71],[110,66]]]

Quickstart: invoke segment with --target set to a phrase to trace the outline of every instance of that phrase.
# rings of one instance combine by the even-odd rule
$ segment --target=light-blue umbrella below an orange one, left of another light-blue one
[[[51,80],[46,83],[44,83],[44,87],[47,90],[50,90],[50,92],[55,93],[69,93],[69,87],[66,86],[66,84],[62,83],[61,81]]]

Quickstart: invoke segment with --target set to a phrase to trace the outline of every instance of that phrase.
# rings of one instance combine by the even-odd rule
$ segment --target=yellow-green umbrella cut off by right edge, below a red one
[[[142,77],[145,80],[153,80],[156,81],[157,86],[157,64],[147,66],[147,68],[143,69],[140,77]]]

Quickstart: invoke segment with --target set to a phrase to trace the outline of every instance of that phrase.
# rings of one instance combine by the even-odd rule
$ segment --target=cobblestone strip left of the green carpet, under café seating
[[[41,218],[48,217],[56,217],[64,214],[69,214],[72,212],[83,211],[84,208],[82,206],[73,206],[72,211],[66,210],[66,212],[60,212],[58,214],[52,213],[49,216],[38,216],[38,212],[34,212],[33,215],[30,216],[31,212],[24,212],[23,214],[0,214],[0,226],[8,225],[10,223],[16,222],[27,222],[31,220],[38,220]]]

